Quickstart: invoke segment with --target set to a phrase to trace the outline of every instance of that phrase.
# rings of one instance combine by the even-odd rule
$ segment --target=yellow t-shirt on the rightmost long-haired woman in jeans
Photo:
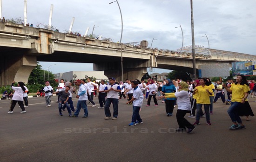
[[[244,93],[248,93],[250,88],[247,85],[232,84],[230,90],[232,91],[231,102],[242,102]],[[245,101],[247,101],[247,99]]]

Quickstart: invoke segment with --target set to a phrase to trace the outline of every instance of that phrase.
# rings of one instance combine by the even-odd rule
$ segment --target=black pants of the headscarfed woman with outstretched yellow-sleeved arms
[[[194,125],[192,125],[191,123],[189,123],[189,121],[184,118],[184,116],[187,114],[187,113],[190,113],[189,110],[177,110],[177,113],[176,113],[176,118],[177,118],[177,122],[178,122],[178,125],[179,125],[179,128],[194,128]]]

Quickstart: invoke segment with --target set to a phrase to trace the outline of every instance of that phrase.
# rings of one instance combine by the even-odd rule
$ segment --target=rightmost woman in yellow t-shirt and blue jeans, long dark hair
[[[248,92],[250,91],[246,77],[244,75],[237,75],[236,83],[233,84],[230,89],[226,84],[223,84],[222,86],[227,92],[232,93],[231,106],[228,109],[228,113],[233,125],[229,127],[229,130],[245,129],[238,112],[239,109],[243,108],[243,104],[247,101],[247,96],[249,95]]]

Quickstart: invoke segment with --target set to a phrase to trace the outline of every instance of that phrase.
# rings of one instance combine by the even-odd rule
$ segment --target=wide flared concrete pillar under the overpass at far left
[[[10,85],[13,81],[27,84],[28,77],[36,66],[36,56],[10,53],[1,55],[0,84]]]

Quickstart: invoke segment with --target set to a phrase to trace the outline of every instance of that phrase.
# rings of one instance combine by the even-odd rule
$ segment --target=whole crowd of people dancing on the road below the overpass
[[[248,97],[249,94],[251,94],[251,97],[256,97],[256,84],[255,81],[251,81],[249,84],[244,75],[238,75],[236,81],[228,80],[226,83],[220,81],[212,83],[209,78],[199,78],[195,81],[188,80],[186,82],[180,79],[154,81],[149,78],[146,82],[144,80],[139,81],[135,79],[131,81],[127,79],[123,83],[122,81],[116,82],[113,77],[108,78],[108,80],[107,83],[104,80],[98,83],[87,78],[86,80],[74,81],[75,86],[72,86],[71,82],[64,82],[61,79],[60,84],[56,87],[56,91],[47,81],[43,88],[46,107],[51,106],[51,96],[56,93],[58,95],[57,102],[59,103],[60,116],[63,116],[62,112],[65,112],[67,108],[68,116],[78,117],[81,109],[83,109],[84,114],[82,118],[88,118],[87,100],[92,104],[92,107],[95,107],[94,97],[98,93],[100,104],[98,108],[104,108],[105,119],[116,120],[118,118],[119,100],[123,98],[127,100],[127,104],[133,105],[132,120],[129,126],[134,126],[143,123],[139,114],[143,100],[147,101],[146,106],[150,106],[153,97],[154,106],[158,106],[159,100],[165,103],[165,112],[168,117],[173,116],[174,107],[178,106],[176,119],[179,128],[176,131],[187,131],[188,129],[187,133],[192,132],[195,129],[195,125],[200,125],[200,118],[206,118],[206,124],[212,125],[210,114],[213,114],[213,103],[216,103],[219,98],[221,98],[224,104],[227,104],[228,101],[231,103],[228,114],[232,125],[229,127],[229,130],[245,129],[240,116],[246,116],[247,121],[250,120],[249,116],[254,116],[248,102]],[[14,83],[13,81],[12,89],[14,93],[8,113],[13,113],[13,108],[17,102],[22,110],[20,113],[26,113],[25,107],[28,107],[27,93],[29,91],[23,82],[18,82],[18,87],[14,87]],[[228,94],[227,100],[225,100],[224,89]],[[78,99],[76,109],[72,101],[74,93],[76,93],[76,98]],[[4,92],[4,94],[7,98],[7,92]],[[25,104],[23,104],[23,100]],[[113,115],[110,111],[111,104],[113,105]],[[189,118],[195,118],[193,124],[190,124],[184,118],[187,113],[190,113]]]

